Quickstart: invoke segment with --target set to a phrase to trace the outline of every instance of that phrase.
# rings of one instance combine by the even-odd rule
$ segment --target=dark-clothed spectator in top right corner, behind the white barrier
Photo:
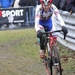
[[[67,0],[67,5],[65,9],[71,13],[75,13],[75,0]]]

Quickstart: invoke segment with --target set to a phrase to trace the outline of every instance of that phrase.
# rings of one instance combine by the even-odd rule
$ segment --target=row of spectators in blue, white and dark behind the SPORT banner
[[[36,6],[36,3],[40,4],[40,0],[0,0],[0,8]]]

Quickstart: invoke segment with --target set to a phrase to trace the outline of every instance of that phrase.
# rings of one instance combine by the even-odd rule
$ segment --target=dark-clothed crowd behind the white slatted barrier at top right
[[[53,4],[58,9],[75,13],[75,0],[53,0]]]

